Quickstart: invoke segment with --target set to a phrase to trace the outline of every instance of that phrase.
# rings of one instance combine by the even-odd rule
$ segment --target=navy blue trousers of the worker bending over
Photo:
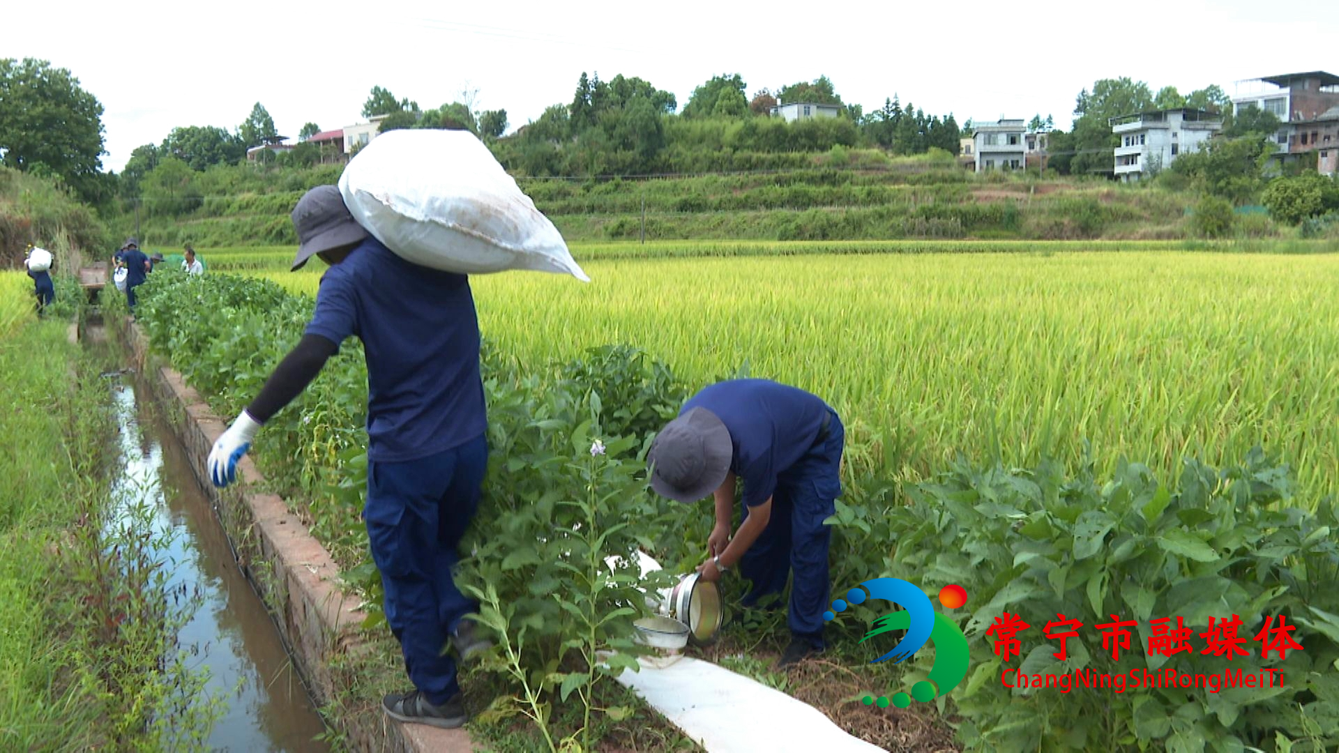
[[[823,647],[823,611],[829,608],[828,548],[832,529],[823,520],[837,512],[841,496],[841,453],[846,430],[832,411],[828,437],[777,477],[771,517],[754,545],[739,561],[739,573],[753,581],[744,604],[781,594],[790,586],[787,624],[793,635]],[[749,508],[744,508],[744,520]]]

